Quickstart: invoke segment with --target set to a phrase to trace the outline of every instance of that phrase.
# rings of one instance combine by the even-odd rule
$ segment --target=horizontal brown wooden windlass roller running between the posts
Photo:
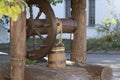
[[[63,33],[73,33],[76,30],[77,23],[73,19],[60,19],[62,21],[62,30]],[[41,34],[47,34],[45,19],[36,19],[34,20],[35,29],[38,30]],[[59,24],[58,24],[59,25]],[[27,26],[31,26],[30,20],[27,20]]]

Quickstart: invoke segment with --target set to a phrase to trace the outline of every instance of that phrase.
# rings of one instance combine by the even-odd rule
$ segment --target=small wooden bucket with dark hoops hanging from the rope
[[[58,69],[65,68],[66,56],[64,46],[54,46],[48,55],[48,67]]]

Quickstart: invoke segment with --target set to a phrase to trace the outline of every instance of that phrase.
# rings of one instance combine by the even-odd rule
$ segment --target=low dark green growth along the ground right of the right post
[[[93,38],[87,40],[87,50],[120,50],[120,41],[108,40],[112,39],[107,36],[99,39]]]

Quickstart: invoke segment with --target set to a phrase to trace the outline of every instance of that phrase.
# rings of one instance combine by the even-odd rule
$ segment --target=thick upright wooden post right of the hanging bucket
[[[86,0],[71,0],[72,18],[77,20],[77,29],[73,34],[71,60],[86,61]]]

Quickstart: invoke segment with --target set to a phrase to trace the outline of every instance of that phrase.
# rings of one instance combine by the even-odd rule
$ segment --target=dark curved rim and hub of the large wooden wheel
[[[30,59],[41,59],[49,53],[49,51],[52,49],[53,45],[55,44],[56,35],[57,35],[56,18],[55,18],[54,12],[53,12],[48,0],[27,0],[27,3],[29,5],[36,5],[40,9],[39,12],[38,12],[38,15],[37,15],[37,19],[40,18],[39,15],[41,15],[41,13],[44,13],[45,18],[46,18],[46,23],[49,24],[49,26],[43,26],[44,28],[47,29],[47,35],[44,38],[41,36],[39,31],[34,29],[34,24],[30,24],[27,27],[27,37],[32,36],[32,34],[34,33],[34,34],[37,34],[42,41],[41,45],[39,47],[39,50],[37,50],[37,51],[36,50],[27,51],[28,58],[30,58]],[[33,22],[34,20],[31,20],[31,21],[32,22],[30,22],[30,23],[34,23]],[[34,52],[35,53],[37,52],[35,56],[32,55],[32,54],[34,54]]]

